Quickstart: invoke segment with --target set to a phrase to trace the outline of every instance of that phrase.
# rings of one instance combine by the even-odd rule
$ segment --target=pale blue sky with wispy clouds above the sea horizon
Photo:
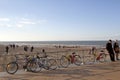
[[[120,0],[0,0],[0,41],[120,39]]]

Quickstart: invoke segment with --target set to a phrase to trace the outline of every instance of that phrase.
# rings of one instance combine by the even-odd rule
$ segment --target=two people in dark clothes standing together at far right
[[[109,40],[106,44],[106,49],[110,55],[111,61],[119,60],[119,43],[118,40],[116,40],[114,43],[112,40]]]

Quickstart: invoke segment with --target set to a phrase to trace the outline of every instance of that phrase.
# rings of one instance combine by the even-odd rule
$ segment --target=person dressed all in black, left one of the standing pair
[[[114,54],[114,51],[113,51],[113,47],[112,47],[112,40],[109,40],[106,44],[106,49],[110,55],[110,59],[111,61],[115,61],[115,54]]]

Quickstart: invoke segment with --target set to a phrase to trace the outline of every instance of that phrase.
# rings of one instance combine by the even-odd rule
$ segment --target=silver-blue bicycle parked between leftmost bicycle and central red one
[[[55,59],[49,59],[47,56],[36,56],[34,60],[28,62],[27,66],[29,66],[32,72],[40,72],[42,68],[46,70],[55,70],[57,68],[57,63]]]

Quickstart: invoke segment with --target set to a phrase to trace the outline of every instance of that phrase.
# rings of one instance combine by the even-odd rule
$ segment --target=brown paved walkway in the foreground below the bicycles
[[[40,73],[18,71],[0,73],[0,80],[120,80],[120,61],[59,68]]]

